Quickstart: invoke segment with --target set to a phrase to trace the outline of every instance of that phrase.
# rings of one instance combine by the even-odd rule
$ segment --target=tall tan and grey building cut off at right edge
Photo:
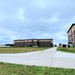
[[[71,25],[67,33],[68,33],[68,44],[72,44],[73,46],[75,46],[75,23]]]

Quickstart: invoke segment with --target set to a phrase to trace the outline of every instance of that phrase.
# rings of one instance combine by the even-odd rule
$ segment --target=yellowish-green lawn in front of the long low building
[[[7,47],[0,48],[0,53],[24,53],[32,51],[42,51],[50,47]]]

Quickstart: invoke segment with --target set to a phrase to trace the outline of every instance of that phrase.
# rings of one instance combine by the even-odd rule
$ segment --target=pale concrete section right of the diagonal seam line
[[[57,51],[51,67],[75,69],[75,54]]]

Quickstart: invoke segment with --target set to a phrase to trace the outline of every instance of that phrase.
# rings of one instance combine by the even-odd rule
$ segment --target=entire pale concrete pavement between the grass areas
[[[56,49],[57,47],[53,47],[29,53],[0,54],[0,62],[75,69],[75,54],[59,52]]]

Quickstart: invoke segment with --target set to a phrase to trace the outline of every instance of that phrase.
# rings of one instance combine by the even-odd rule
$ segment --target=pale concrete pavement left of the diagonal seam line
[[[56,52],[56,48],[50,48],[44,51],[20,53],[20,54],[0,54],[0,62],[50,66]]]

